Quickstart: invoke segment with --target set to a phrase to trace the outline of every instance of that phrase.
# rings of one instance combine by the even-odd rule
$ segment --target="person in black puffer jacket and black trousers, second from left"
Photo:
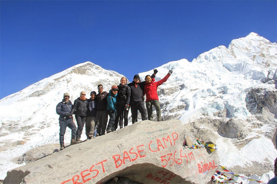
[[[80,97],[74,100],[74,105],[70,111],[70,115],[72,114],[75,114],[75,118],[77,121],[76,141],[81,141],[80,138],[82,135],[87,115],[87,98],[85,91],[81,91]]]

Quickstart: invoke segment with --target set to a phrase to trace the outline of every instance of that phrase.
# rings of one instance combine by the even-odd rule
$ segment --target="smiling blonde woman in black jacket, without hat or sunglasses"
[[[130,96],[131,96],[131,89],[127,85],[127,78],[122,77],[120,79],[120,84],[118,87],[118,113],[117,117],[115,118],[114,122],[114,130],[118,127],[118,121],[120,128],[123,128],[123,119],[124,119],[124,126],[128,125],[128,113],[130,107]]]

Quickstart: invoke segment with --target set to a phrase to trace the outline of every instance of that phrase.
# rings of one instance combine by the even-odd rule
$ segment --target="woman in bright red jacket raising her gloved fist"
[[[154,82],[150,75],[145,76],[145,86],[143,96],[146,94],[146,109],[148,114],[148,120],[153,121],[153,105],[157,112],[157,121],[162,121],[161,106],[157,94],[157,88],[162,83],[166,82],[169,76],[172,74],[172,70],[168,71],[168,74],[158,82]]]

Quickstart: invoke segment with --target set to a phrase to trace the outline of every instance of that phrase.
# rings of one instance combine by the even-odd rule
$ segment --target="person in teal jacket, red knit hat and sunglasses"
[[[115,117],[117,115],[117,93],[118,93],[118,87],[116,85],[113,85],[111,87],[111,90],[109,91],[109,95],[107,98],[107,111],[110,116],[110,120],[107,126],[107,133],[110,133],[112,131],[115,131],[114,129],[114,121]]]

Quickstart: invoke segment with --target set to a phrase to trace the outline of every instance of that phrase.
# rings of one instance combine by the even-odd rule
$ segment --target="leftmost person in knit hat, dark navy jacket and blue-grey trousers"
[[[59,102],[56,107],[56,113],[60,115],[59,125],[60,125],[60,145],[61,150],[64,149],[64,134],[66,132],[66,127],[71,129],[71,142],[70,144],[77,144],[79,141],[75,141],[76,137],[76,125],[73,122],[72,114],[70,111],[72,109],[72,102],[69,100],[69,93],[63,94],[62,102]]]

